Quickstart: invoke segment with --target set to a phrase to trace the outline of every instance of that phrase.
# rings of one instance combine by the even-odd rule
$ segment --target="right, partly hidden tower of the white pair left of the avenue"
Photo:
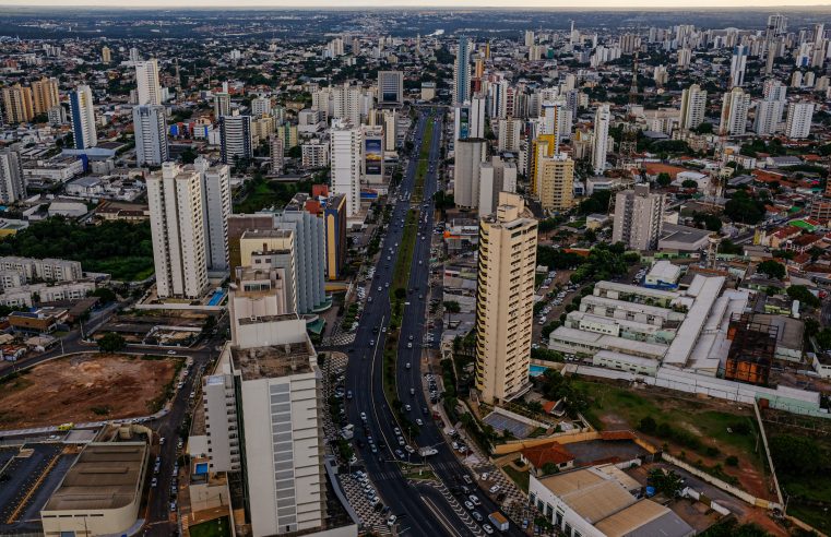
[[[211,166],[200,156],[193,163],[202,182],[202,223],[205,238],[205,263],[209,271],[227,272],[228,216],[230,216],[230,167]]]

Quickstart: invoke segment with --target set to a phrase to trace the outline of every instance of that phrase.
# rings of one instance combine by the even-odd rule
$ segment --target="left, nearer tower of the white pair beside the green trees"
[[[199,298],[207,287],[199,172],[176,163],[147,178],[153,262],[159,298]]]

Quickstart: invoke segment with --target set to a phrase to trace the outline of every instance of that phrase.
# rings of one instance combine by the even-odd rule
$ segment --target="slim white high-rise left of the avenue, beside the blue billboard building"
[[[332,160],[332,192],[346,196],[346,216],[360,213],[360,129],[346,121],[332,122],[329,155]]]

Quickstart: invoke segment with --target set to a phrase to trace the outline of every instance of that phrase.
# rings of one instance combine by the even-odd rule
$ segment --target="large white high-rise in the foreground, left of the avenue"
[[[203,380],[211,469],[241,474],[253,537],[325,528],[322,373],[306,323],[256,317],[238,329]]]

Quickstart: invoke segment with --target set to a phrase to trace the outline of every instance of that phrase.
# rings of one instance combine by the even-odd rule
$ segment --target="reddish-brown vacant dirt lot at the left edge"
[[[90,353],[36,366],[0,384],[0,429],[146,416],[176,365]]]

